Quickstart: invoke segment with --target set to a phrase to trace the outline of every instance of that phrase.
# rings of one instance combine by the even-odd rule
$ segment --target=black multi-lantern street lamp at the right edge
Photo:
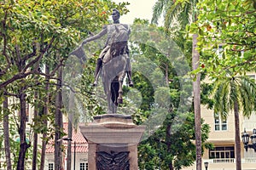
[[[244,133],[242,133],[241,139],[246,151],[248,150],[248,148],[252,148],[256,152],[256,128],[253,129],[253,134],[251,135],[251,137],[246,132],[246,129],[244,129]],[[252,144],[249,144],[249,139],[251,139]]]

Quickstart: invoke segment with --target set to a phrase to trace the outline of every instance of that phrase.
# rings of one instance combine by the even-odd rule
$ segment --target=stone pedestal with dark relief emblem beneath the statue
[[[145,127],[135,125],[131,116],[106,114],[94,116],[94,122],[80,124],[89,144],[90,170],[137,170],[137,144]]]

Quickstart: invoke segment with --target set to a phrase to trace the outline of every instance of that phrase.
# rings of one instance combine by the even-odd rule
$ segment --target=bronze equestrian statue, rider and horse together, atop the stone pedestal
[[[113,9],[113,24],[103,26],[101,32],[93,37],[86,38],[81,45],[83,47],[86,42],[108,35],[105,48],[97,59],[95,81],[93,82],[93,86],[96,86],[99,73],[102,70],[102,82],[108,99],[108,113],[116,113],[117,106],[123,102],[122,84],[125,73],[128,77],[129,86],[133,86],[127,43],[131,31],[128,25],[119,24],[119,17],[119,11]]]

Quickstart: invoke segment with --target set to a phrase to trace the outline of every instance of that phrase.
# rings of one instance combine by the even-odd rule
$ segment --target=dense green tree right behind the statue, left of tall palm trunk
[[[188,167],[195,161],[195,144],[191,143],[191,139],[195,139],[195,119],[183,108],[185,99],[181,99],[181,96],[187,98],[191,95],[192,82],[183,83],[183,76],[189,72],[189,65],[186,64],[189,57],[179,52],[174,41],[168,41],[170,38],[164,34],[164,28],[149,25],[145,20],[135,22],[131,32],[131,42],[135,43],[134,46],[131,43],[131,60],[135,61],[132,65],[135,71],[134,87],[142,94],[140,111],[143,116],[133,117],[140,124],[157,113],[166,116],[165,121],[158,124],[159,129],[139,145],[139,166],[141,169]],[[143,31],[143,26],[148,29]],[[191,51],[191,46],[187,48],[186,43],[183,47]],[[182,74],[178,70],[182,70]],[[170,103],[166,102],[168,99]],[[158,117],[155,116],[149,124],[155,127],[157,121]],[[206,141],[209,127],[205,124],[202,127],[203,141]]]

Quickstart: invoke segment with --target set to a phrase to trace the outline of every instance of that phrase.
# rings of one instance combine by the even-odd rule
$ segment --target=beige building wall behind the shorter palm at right
[[[211,132],[209,134],[208,142],[215,146],[230,146],[235,145],[235,121],[234,114],[230,113],[227,117],[228,128],[226,131],[215,131],[214,130],[214,116],[213,111],[207,109],[206,106],[201,106],[201,117],[204,118],[205,122],[210,125]],[[247,133],[252,133],[253,128],[256,127],[256,114],[248,119],[247,117],[240,116],[240,130],[243,132],[244,128],[247,129]],[[209,151],[205,150],[202,156],[202,170],[205,169],[204,162],[209,162],[208,170],[235,170],[236,160],[227,159],[220,160],[223,162],[216,162],[213,159],[209,159]],[[241,141],[241,166],[242,170],[256,170],[256,152],[252,149],[248,149],[247,152],[243,148]],[[191,167],[183,168],[183,170],[196,170],[195,163]]]

